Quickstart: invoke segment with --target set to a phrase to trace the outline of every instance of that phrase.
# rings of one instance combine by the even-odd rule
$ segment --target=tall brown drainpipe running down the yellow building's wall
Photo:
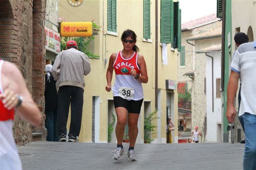
[[[156,110],[158,109],[158,0],[156,0],[156,42],[155,42],[155,67],[156,67],[156,71],[155,71],[155,75],[156,75],[156,79],[155,79],[155,108]]]

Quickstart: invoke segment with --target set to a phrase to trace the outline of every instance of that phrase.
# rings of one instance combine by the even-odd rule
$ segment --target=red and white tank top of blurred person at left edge
[[[0,60],[0,93],[3,93],[1,70],[3,60]],[[0,170],[21,170],[21,160],[18,156],[13,138],[12,125],[14,109],[8,110],[0,101]]]

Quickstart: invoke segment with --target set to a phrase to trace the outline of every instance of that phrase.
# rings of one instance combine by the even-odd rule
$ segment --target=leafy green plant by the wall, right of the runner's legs
[[[154,134],[153,131],[157,127],[155,124],[153,124],[152,121],[158,119],[156,115],[157,110],[150,113],[146,118],[144,118],[144,141],[147,141],[147,143],[151,143],[153,139],[151,139],[151,135]]]

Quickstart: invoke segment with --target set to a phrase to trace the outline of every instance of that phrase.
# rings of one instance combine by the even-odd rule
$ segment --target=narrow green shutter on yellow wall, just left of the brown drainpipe
[[[150,39],[150,0],[143,1],[143,37]]]

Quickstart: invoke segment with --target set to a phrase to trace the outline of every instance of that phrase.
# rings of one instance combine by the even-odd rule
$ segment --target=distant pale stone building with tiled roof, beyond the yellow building
[[[200,131],[204,131],[206,127],[204,125],[206,119],[206,55],[197,52],[213,44],[221,43],[221,38],[216,38],[215,35],[212,38],[209,34],[205,35],[207,39],[205,37],[193,39],[193,37],[206,32],[214,32],[221,26],[222,23],[218,21],[216,14],[182,23],[181,46],[185,54],[185,61],[181,62],[182,52],[179,52],[178,81],[186,83],[187,89],[191,92],[191,130],[194,129],[194,126],[198,126]]]

